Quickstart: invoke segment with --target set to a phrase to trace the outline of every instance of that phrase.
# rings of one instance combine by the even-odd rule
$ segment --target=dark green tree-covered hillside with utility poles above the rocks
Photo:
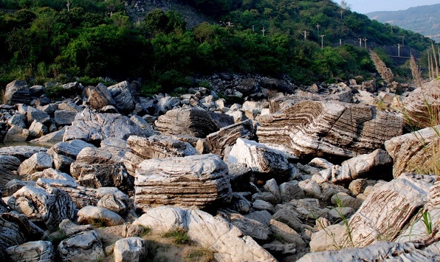
[[[156,91],[191,85],[188,76],[225,71],[334,81],[371,76],[367,49],[392,67],[385,51],[402,38],[416,55],[431,44],[330,0],[67,3],[0,0],[2,86],[13,79],[141,78],[145,90]],[[405,68],[394,70],[408,75]]]

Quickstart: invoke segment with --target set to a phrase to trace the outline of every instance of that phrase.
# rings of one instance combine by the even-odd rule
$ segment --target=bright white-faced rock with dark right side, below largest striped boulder
[[[228,163],[245,163],[254,172],[286,175],[289,161],[285,153],[264,144],[239,138],[232,146]]]

